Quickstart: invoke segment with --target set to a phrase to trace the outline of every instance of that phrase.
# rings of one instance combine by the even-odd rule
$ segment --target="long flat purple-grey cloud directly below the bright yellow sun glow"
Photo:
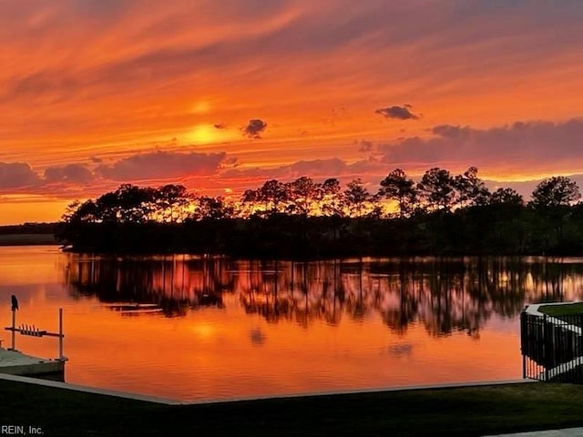
[[[104,178],[120,181],[207,176],[215,174],[226,160],[225,152],[157,151],[132,155],[110,165],[102,164],[96,168],[96,173]]]

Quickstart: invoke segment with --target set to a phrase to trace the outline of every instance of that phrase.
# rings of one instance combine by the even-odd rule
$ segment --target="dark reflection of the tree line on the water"
[[[73,297],[95,295],[122,315],[182,317],[225,309],[232,293],[264,320],[338,325],[380,316],[396,333],[422,323],[434,336],[465,331],[478,338],[493,314],[514,319],[526,302],[580,299],[579,259],[335,259],[315,262],[235,260],[174,255],[99,258],[68,255]],[[261,330],[250,333],[261,345]],[[390,353],[406,355],[407,345]]]

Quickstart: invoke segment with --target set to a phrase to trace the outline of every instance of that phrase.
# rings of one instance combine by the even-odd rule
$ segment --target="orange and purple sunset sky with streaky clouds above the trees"
[[[582,22],[578,0],[0,0],[0,224],[126,182],[583,182]]]

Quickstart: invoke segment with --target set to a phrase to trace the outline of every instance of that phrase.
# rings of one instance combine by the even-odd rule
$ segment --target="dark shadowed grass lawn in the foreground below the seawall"
[[[0,406],[0,424],[45,436],[478,436],[583,426],[583,386],[542,382],[166,406],[0,381]]]

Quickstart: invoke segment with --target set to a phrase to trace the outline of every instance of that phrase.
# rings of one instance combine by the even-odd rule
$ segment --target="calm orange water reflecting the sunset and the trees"
[[[0,248],[0,320],[57,329],[66,381],[182,400],[521,377],[526,302],[578,300],[583,259],[99,258]],[[8,343],[8,332],[0,334]],[[56,339],[16,336],[56,357]]]

